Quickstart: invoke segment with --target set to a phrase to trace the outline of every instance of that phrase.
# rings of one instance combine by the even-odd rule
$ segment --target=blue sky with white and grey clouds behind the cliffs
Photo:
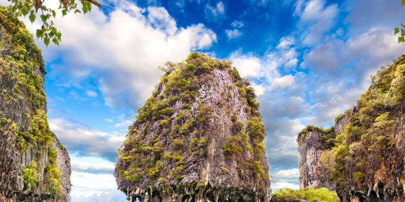
[[[99,2],[85,16],[57,16],[59,46],[38,41],[50,126],[71,158],[72,201],[122,198],[111,174],[116,150],[166,61],[199,51],[254,81],[275,190],[298,188],[297,133],[331,126],[370,75],[405,53],[393,36],[405,19],[399,0]]]

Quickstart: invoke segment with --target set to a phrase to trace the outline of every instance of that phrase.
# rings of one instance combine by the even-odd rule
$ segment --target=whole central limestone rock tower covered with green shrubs
[[[192,53],[138,110],[114,176],[130,201],[269,201],[259,104],[228,61]]]

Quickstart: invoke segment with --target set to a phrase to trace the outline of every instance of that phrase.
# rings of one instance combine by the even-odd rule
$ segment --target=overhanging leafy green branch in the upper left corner
[[[33,23],[37,17],[37,13],[41,12],[39,16],[42,21],[42,26],[40,29],[36,30],[36,37],[44,40],[44,43],[48,46],[49,42],[52,40],[53,43],[59,45],[62,33],[54,27],[54,21],[56,18],[56,12],[60,11],[62,17],[67,15],[69,12],[86,14],[91,11],[92,5],[96,5],[101,8],[101,5],[95,0],[77,0],[82,4],[82,11],[77,8],[76,0],[61,0],[59,1],[59,10],[53,10],[44,6],[45,0],[8,0],[11,2],[9,9],[11,12],[17,16],[28,16],[29,21]],[[55,0],[53,0],[55,1]]]

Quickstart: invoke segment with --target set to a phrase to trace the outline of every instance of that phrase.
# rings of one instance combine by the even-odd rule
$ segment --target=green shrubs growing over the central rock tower
[[[127,139],[118,150],[116,168],[122,180],[138,183],[146,178],[149,182],[166,183],[173,179],[180,182],[184,169],[206,156],[210,141],[206,137],[206,126],[214,114],[212,106],[199,103],[197,97],[202,85],[218,82],[214,78],[215,69],[227,71],[231,75],[231,87],[239,92],[239,98],[246,104],[245,111],[250,117],[244,125],[237,120],[236,114],[232,116],[232,134],[223,144],[224,155],[229,159],[239,159],[245,152],[251,153],[254,158],[250,162],[240,162],[239,175],[243,176],[244,169],[252,167],[257,179],[268,180],[268,174],[262,166],[265,164],[262,162],[265,133],[259,104],[249,82],[242,79],[230,64],[229,61],[191,53],[181,63],[168,62],[164,67],[159,67],[165,74],[152,96],[138,109],[136,121],[129,127]],[[226,87],[221,93],[228,100],[231,98]],[[193,103],[198,105],[192,107]],[[223,102],[220,104],[224,108],[226,105]],[[229,109],[229,114],[232,113]],[[226,171],[226,168],[223,170]]]

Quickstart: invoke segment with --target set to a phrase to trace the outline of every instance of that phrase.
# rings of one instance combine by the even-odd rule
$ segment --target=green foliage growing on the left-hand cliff
[[[33,41],[32,35],[9,10],[0,7],[0,76],[5,86],[0,92],[0,99],[9,109],[0,109],[0,126],[3,132],[12,132],[16,138],[16,146],[20,154],[27,149],[41,148],[48,153],[49,161],[44,171],[44,181],[41,183],[37,177],[39,172],[35,161],[28,167],[23,167],[23,178],[26,188],[31,190],[42,189],[59,195],[60,174],[56,168],[56,153],[52,143],[58,141],[49,128],[46,115],[46,95],[44,91],[44,60],[39,49]],[[3,110],[23,103],[25,113],[22,119],[25,125],[17,130],[17,124],[5,118]],[[18,109],[19,110],[19,109]],[[60,142],[59,147],[64,148]],[[38,151],[37,160],[43,154]]]

